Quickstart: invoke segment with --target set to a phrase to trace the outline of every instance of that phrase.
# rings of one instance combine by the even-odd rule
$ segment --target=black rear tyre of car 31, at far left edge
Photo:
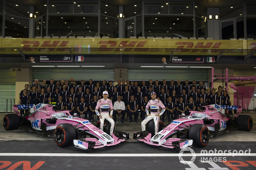
[[[18,129],[17,125],[20,124],[20,117],[17,114],[4,115],[4,129],[6,131]]]

